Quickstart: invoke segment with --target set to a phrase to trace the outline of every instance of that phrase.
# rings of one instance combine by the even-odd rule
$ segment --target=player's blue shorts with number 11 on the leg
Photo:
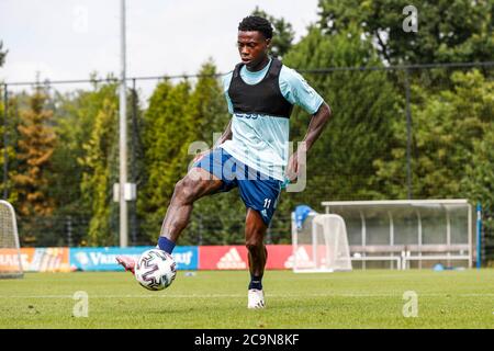
[[[222,180],[218,192],[238,186],[245,206],[258,211],[266,226],[269,226],[281,192],[281,181],[249,168],[223,148],[204,155],[193,167],[200,167]]]

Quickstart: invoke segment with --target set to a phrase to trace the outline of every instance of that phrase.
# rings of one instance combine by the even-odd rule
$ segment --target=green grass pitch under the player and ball
[[[148,292],[123,272],[29,273],[0,280],[0,328],[494,328],[494,270],[267,271],[263,310],[247,309],[247,281],[245,271],[179,272]],[[87,317],[74,316],[78,291]],[[406,291],[416,317],[403,315]]]

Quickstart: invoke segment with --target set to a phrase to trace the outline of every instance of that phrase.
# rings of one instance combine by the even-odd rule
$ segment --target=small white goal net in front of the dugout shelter
[[[343,217],[311,213],[301,226],[292,220],[293,271],[351,271],[350,248]]]

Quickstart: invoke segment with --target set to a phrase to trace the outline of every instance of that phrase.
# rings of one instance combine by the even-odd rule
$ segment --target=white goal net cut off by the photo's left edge
[[[10,203],[0,200],[0,279],[22,276],[15,212]]]

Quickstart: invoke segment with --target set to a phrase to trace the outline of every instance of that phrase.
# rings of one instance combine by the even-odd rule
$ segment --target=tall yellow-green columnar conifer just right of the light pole
[[[155,240],[173,188],[187,172],[188,141],[193,121],[187,113],[190,83],[160,82],[149,100],[143,121],[146,177],[137,200],[142,229]]]

